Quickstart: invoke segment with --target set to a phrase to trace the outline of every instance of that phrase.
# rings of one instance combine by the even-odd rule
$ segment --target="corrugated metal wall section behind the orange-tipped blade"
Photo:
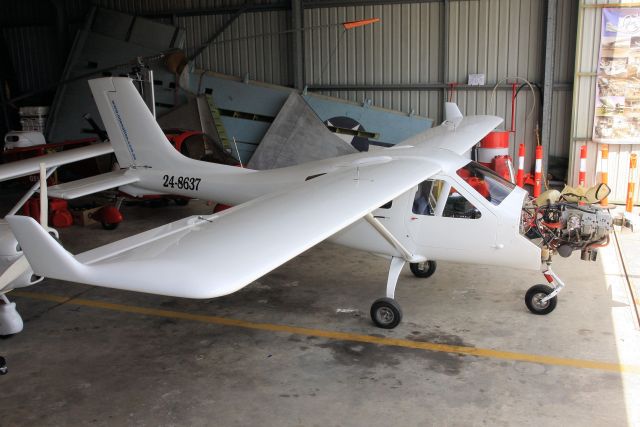
[[[305,83],[393,85],[442,81],[440,3],[307,9]],[[341,22],[377,17],[380,23],[345,31]],[[316,27],[316,28],[314,28]],[[326,94],[407,113],[437,117],[442,93],[330,91]],[[435,96],[433,96],[435,95]]]

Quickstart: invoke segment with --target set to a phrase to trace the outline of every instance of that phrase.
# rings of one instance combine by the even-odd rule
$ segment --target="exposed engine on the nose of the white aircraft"
[[[609,243],[613,218],[594,205],[559,201],[523,210],[522,232],[529,239],[541,239],[543,261],[553,253],[569,257],[581,251],[581,259],[595,261],[597,249]]]

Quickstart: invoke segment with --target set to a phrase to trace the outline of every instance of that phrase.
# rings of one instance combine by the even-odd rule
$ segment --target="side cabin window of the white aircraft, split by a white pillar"
[[[462,194],[439,179],[429,179],[418,186],[412,211],[416,215],[448,218],[476,219],[481,216],[480,211]]]

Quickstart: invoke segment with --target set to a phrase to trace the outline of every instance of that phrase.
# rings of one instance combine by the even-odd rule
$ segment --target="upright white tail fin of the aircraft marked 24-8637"
[[[171,146],[131,79],[105,77],[89,80],[89,86],[120,167],[166,169],[186,160]]]

